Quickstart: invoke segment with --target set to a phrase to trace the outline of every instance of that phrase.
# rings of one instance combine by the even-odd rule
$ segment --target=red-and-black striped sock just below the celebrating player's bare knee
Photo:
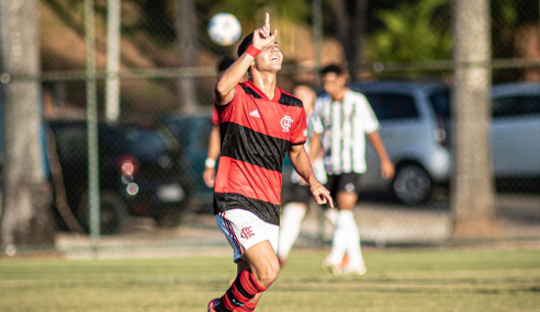
[[[244,310],[240,309],[238,311],[252,311],[257,307],[257,303],[249,302],[249,300],[267,289],[257,282],[251,271],[244,270],[236,277],[230,288],[222,297],[222,307],[228,311],[244,307]]]

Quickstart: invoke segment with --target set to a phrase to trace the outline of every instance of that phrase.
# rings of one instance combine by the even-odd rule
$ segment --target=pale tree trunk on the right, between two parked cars
[[[453,27],[453,235],[493,236],[499,227],[490,147],[490,1],[455,0]]]

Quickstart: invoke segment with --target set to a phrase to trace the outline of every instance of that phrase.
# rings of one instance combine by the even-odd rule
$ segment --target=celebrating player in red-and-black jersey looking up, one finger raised
[[[214,213],[234,250],[238,275],[223,297],[209,302],[209,312],[252,311],[261,292],[278,278],[275,251],[285,153],[317,204],[334,206],[304,149],[307,130],[302,101],[275,86],[283,61],[277,35],[267,13],[265,25],[243,39],[238,59],[215,86],[222,154]],[[238,83],[246,71],[249,79]]]

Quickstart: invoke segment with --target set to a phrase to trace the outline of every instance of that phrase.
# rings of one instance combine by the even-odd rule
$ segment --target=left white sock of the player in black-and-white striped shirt
[[[355,216],[351,210],[340,210],[336,221],[336,229],[334,230],[334,238],[331,240],[331,252],[328,257],[330,264],[339,265],[344,258],[345,253],[351,245],[351,229],[357,229]],[[349,255],[350,256],[350,255]]]

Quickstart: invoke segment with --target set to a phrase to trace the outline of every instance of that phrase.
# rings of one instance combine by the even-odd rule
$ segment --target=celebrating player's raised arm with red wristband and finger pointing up
[[[238,59],[222,74],[214,90],[214,102],[217,105],[225,105],[233,101],[235,85],[241,80],[246,71],[254,63],[254,59],[259,53],[272,44],[278,35],[275,30],[270,30],[270,14],[267,13],[265,25],[252,33],[252,44]]]

